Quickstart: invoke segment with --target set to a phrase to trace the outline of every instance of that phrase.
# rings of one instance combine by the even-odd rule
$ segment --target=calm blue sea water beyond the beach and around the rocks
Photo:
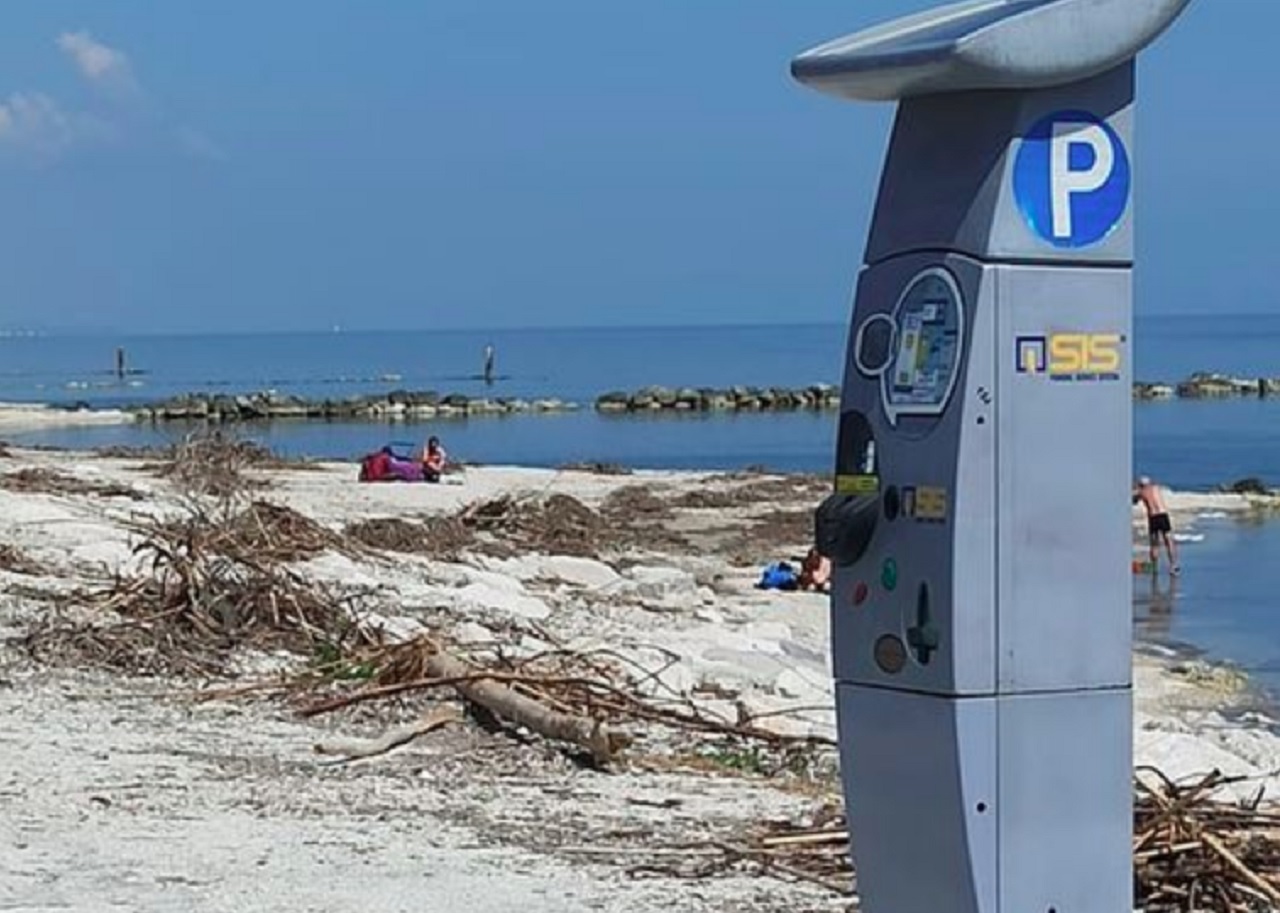
[[[0,333],[0,402],[97,408],[186,392],[276,391],[342,398],[394,389],[557,397],[582,408],[430,421],[282,421],[241,434],[291,456],[351,460],[436,434],[472,464],[635,469],[764,466],[828,471],[832,414],[609,416],[607,391],[838,384],[845,324],[502,330],[109,335]],[[481,376],[493,346],[495,378]],[[116,350],[128,373],[115,376]],[[1134,324],[1134,376],[1194,371],[1280,376],[1280,315],[1144,316]],[[189,429],[108,425],[9,433],[15,444],[93,448],[165,444]],[[1134,470],[1187,490],[1256,476],[1280,485],[1280,400],[1138,402]],[[353,470],[355,478],[355,470]],[[1212,513],[1179,530],[1183,575],[1134,576],[1137,631],[1151,643],[1238,665],[1280,695],[1280,598],[1271,561],[1280,522]]]

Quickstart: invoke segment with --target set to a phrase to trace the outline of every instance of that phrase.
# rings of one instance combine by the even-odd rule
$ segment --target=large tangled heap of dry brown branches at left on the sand
[[[134,552],[148,572],[63,604],[28,633],[33,657],[141,675],[221,675],[246,647],[314,654],[379,642],[352,597],[285,566],[335,540],[288,508],[255,502],[221,522],[193,510],[136,530]]]

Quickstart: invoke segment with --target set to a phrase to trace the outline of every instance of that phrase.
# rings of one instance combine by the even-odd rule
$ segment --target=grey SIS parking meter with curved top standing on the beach
[[[868,913],[1133,909],[1134,58],[1185,5],[970,3],[792,64],[899,101],[815,528]]]

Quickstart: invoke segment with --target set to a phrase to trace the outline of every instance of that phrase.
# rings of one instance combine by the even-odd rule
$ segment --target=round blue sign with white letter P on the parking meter
[[[1057,111],[1023,138],[1014,196],[1027,224],[1056,247],[1107,237],[1129,206],[1129,154],[1111,127],[1085,111]]]

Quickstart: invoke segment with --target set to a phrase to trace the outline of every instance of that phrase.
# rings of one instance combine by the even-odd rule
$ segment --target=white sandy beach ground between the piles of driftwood
[[[134,497],[0,487],[0,545],[44,572],[0,571],[0,908],[146,910],[684,910],[844,909],[812,885],[733,876],[628,877],[617,863],[774,818],[804,818],[829,790],[691,768],[591,772],[553,747],[468,727],[390,754],[325,766],[311,747],[371,736],[364,716],[300,720],[268,699],[193,703],[191,688],[33,665],[12,640],[50,603],[104,575],[140,570],[131,516],[174,510],[169,481],[142,460],[10,449],[0,478],[27,469],[114,483]],[[444,485],[362,485],[352,465],[265,473],[257,494],[333,530],[357,520],[452,512],[506,493],[562,493],[598,506],[643,484],[663,498],[727,490],[719,474],[474,467]],[[815,501],[815,498],[814,498]],[[364,588],[388,630],[411,636],[440,617],[460,640],[536,631],[577,650],[608,648],[655,668],[662,686],[709,711],[773,713],[769,726],[833,735],[826,597],[760,592],[759,566],[804,542],[733,563],[714,543],[774,503],[680,510],[666,525],[707,544],[622,561],[463,553],[457,561],[329,552],[308,579]],[[812,506],[812,503],[809,505]],[[1174,494],[1193,522],[1247,512],[1242,496]],[[1137,515],[1135,515],[1137,517]],[[726,547],[728,548],[728,547]],[[731,551],[731,549],[730,549]],[[506,627],[504,627],[506,626]],[[1238,676],[1147,650],[1135,656],[1138,764],[1172,777],[1220,770],[1280,794],[1280,738],[1240,718]],[[700,695],[695,695],[698,691]],[[735,694],[732,700],[724,694]],[[829,759],[828,759],[829,761]]]

